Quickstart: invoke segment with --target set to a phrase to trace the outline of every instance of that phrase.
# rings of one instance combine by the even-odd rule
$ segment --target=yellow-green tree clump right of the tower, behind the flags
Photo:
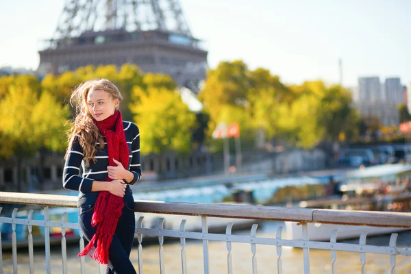
[[[241,61],[210,70],[199,99],[210,115],[209,137],[219,123],[234,121],[245,138],[263,131],[269,140],[305,148],[358,136],[358,114],[345,88],[319,80],[286,86],[269,70],[251,71]]]

